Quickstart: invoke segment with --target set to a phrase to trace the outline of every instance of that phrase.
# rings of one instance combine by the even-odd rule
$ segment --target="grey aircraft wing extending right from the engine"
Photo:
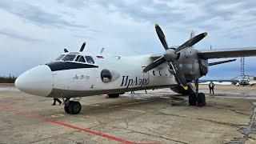
[[[198,50],[198,58],[237,58],[256,56],[256,47],[243,47],[223,50]]]

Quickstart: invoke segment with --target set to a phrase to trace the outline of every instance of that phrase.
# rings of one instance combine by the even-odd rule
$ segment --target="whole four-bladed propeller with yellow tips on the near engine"
[[[158,34],[158,38],[160,39],[160,42],[162,43],[162,46],[166,49],[166,52],[163,54],[162,57],[156,59],[154,62],[150,63],[150,65],[146,66],[146,68],[143,70],[143,72],[147,72],[149,70],[154,69],[155,67],[161,65],[164,62],[168,62],[168,65],[171,66],[174,70],[174,76],[178,79],[178,82],[183,86],[185,90],[188,89],[188,85],[186,82],[186,78],[184,76],[184,73],[180,66],[178,65],[177,59],[178,54],[181,53],[183,50],[186,50],[190,46],[194,46],[197,42],[201,41],[202,38],[205,38],[207,33],[198,34],[197,36],[190,38],[190,40],[183,43],[181,46],[178,46],[178,48],[169,48],[167,42],[166,42],[166,36],[162,32],[162,29],[158,24],[155,24],[155,30]]]

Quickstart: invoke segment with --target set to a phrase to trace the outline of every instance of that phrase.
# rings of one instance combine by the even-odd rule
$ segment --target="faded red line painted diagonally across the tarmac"
[[[11,102],[10,104],[16,104],[18,102],[20,102],[21,100],[17,100],[16,102]],[[69,123],[66,123],[66,122],[59,122],[59,121],[56,121],[54,119],[50,119],[50,118],[46,118],[46,117],[43,117],[41,115],[37,115],[37,114],[31,114],[31,113],[26,113],[26,112],[23,112],[21,110],[17,110],[17,109],[11,109],[8,107],[8,105],[2,105],[0,106],[0,110],[4,110],[6,112],[9,112],[9,113],[14,113],[14,114],[19,114],[19,115],[23,115],[23,116],[26,116],[28,118],[36,118],[42,122],[50,122],[50,123],[53,123],[53,124],[56,124],[58,126],[65,126],[65,127],[68,127],[70,129],[73,129],[73,130],[81,130],[83,132],[85,132],[86,134],[93,134],[93,135],[97,135],[99,137],[102,137],[102,138],[107,138],[107,139],[110,139],[110,140],[114,140],[116,142],[122,142],[122,143],[125,143],[125,144],[134,144],[134,143],[142,143],[142,142],[132,142],[132,141],[128,141],[126,139],[122,139],[122,138],[118,138],[118,137],[114,137],[114,136],[111,136],[109,134],[103,134],[103,133],[100,133],[96,130],[90,130],[90,129],[86,129],[86,128],[81,128],[81,127],[78,127],[78,126],[74,126],[74,125],[71,125]]]

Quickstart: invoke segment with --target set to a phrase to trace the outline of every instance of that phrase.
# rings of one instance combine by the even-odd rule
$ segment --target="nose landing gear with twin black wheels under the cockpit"
[[[70,98],[66,98],[64,101],[64,110],[66,111],[66,114],[79,114],[82,106],[79,102],[81,98],[73,98],[72,101],[70,101]]]

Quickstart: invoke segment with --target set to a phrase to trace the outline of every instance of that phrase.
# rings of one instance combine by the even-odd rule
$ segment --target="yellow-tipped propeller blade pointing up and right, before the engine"
[[[199,41],[202,40],[202,38],[205,38],[207,35],[206,32],[202,33],[202,34],[198,34],[197,36],[195,36],[194,38],[190,38],[190,40],[186,41],[185,43],[182,44],[182,46],[178,46],[178,48],[175,50],[175,54],[178,54],[180,52],[182,52],[182,50],[186,50],[187,48],[189,48],[190,46],[194,46],[194,44],[198,43]]]

